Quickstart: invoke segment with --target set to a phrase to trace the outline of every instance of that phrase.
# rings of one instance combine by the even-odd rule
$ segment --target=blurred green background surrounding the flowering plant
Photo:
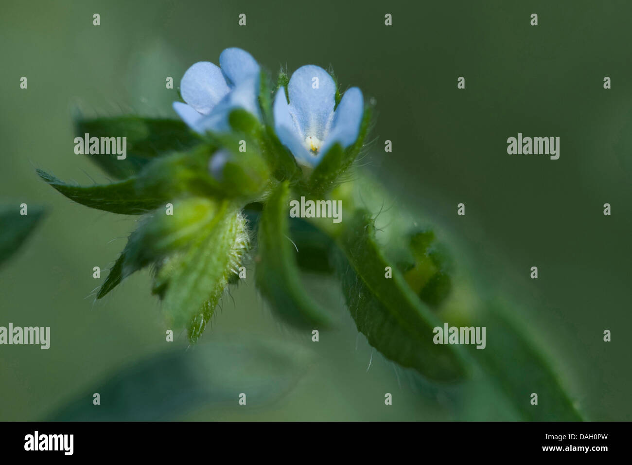
[[[123,378],[137,397],[119,399],[112,419],[514,418],[487,385],[411,381],[357,334],[332,282],[310,281],[339,319],[318,344],[278,323],[252,280],[232,290],[234,301],[224,299],[212,330],[188,350],[184,332],[165,342],[149,272],[94,301],[135,218],[73,204],[35,168],[107,182],[73,153],[73,111],[175,117],[166,77],[177,87],[188,66],[217,63],[230,46],[274,73],[332,65],[342,89],[374,97],[377,139],[365,168],[456,244],[477,292],[513,302],[589,419],[632,419],[631,15],[632,4],[614,0],[4,2],[0,198],[49,214],[0,270],[0,325],[51,326],[51,348],[0,347],[0,420],[49,418],[69,402],[92,407],[93,387]],[[508,155],[507,137],[518,132],[560,137],[559,160]],[[459,202],[465,217],[456,215]],[[278,358],[288,344],[291,364]],[[161,383],[173,395],[152,397]],[[243,386],[261,387],[248,400],[256,408],[238,406]],[[145,416],[130,413],[141,407]]]

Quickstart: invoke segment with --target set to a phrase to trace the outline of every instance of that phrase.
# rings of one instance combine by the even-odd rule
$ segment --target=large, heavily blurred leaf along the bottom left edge
[[[312,353],[302,345],[233,335],[127,366],[76,395],[47,420],[166,421],[231,407],[243,413],[240,392],[259,411],[291,391],[312,363]],[[100,407],[92,404],[95,392]]]

